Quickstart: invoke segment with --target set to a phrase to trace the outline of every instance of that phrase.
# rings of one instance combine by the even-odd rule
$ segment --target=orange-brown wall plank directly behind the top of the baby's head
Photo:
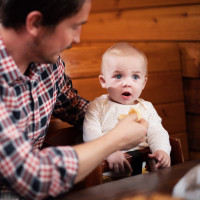
[[[66,63],[66,74],[71,78],[97,77],[100,73],[101,57],[112,45],[113,43],[86,43],[63,51],[61,58]],[[132,45],[146,54],[149,72],[181,71],[177,44],[132,43]]]

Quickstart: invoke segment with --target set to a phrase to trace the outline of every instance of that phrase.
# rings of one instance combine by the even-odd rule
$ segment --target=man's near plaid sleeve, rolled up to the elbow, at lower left
[[[26,132],[15,125],[12,112],[0,101],[1,182],[25,199],[44,199],[68,191],[78,171],[71,147],[33,149]]]

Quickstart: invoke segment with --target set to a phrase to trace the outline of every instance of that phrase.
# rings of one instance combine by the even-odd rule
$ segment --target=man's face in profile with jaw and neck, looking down
[[[34,62],[55,63],[60,53],[80,42],[82,25],[87,22],[91,1],[86,0],[81,10],[73,17],[61,21],[52,31],[42,27],[40,34],[31,43]]]

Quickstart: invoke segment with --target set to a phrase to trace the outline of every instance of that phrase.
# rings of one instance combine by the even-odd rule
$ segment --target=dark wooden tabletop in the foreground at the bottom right
[[[120,200],[137,194],[171,194],[173,187],[200,160],[188,161],[149,174],[128,177],[119,181],[101,184],[88,189],[64,194],[59,200]]]

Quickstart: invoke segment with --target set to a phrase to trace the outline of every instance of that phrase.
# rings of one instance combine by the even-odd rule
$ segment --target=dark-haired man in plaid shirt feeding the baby
[[[92,142],[40,150],[51,114],[82,125],[88,101],[59,54],[79,43],[90,7],[91,0],[0,0],[0,199],[57,196],[112,152],[144,140],[147,123],[133,115]]]

